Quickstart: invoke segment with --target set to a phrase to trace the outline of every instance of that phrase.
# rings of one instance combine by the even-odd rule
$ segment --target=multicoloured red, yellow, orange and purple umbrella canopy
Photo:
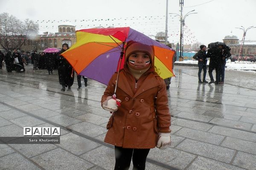
[[[154,66],[163,79],[173,77],[172,61],[175,54],[168,46],[161,44],[130,27],[92,28],[76,31],[76,44],[62,53],[77,74],[108,84],[116,72],[122,46],[133,40],[154,48]],[[124,57],[123,57],[124,58]]]

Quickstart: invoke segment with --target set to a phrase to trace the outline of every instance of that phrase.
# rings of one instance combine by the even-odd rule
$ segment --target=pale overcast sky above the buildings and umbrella
[[[180,14],[179,0],[168,2],[169,13]],[[256,0],[184,0],[183,15],[194,9],[198,13],[185,19],[184,44],[222,42],[230,34],[241,40],[243,31],[235,27],[256,26],[255,8]],[[40,33],[58,32],[60,24],[72,24],[76,30],[130,26],[146,35],[166,28],[166,0],[0,0],[3,12],[38,22]],[[168,18],[170,42],[180,39],[179,17],[174,16]],[[256,40],[256,28],[247,31],[245,40]]]

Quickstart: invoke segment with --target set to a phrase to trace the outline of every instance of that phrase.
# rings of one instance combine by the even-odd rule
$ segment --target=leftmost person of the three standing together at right
[[[207,64],[207,57],[206,57],[206,46],[205,45],[200,45],[200,50],[193,56],[194,59],[198,60],[198,82],[207,82],[205,80],[206,77],[206,64]],[[203,75],[203,81],[201,80],[201,72],[204,70],[204,75]]]

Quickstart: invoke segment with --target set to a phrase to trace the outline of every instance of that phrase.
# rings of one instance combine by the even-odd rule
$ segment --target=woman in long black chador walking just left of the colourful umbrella
[[[68,48],[69,47],[67,43],[62,44],[62,50],[58,53],[58,56],[57,56],[58,76],[59,76],[59,82],[62,85],[62,88],[61,88],[62,91],[65,91],[65,87],[68,87],[68,89],[70,89],[74,82],[73,67],[70,65],[67,59],[61,56],[61,53],[66,51]]]

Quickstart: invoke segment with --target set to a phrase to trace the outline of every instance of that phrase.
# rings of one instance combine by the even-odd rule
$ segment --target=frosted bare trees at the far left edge
[[[34,21],[20,21],[8,13],[0,14],[0,45],[6,51],[20,49],[25,40],[38,34],[39,26]]]

